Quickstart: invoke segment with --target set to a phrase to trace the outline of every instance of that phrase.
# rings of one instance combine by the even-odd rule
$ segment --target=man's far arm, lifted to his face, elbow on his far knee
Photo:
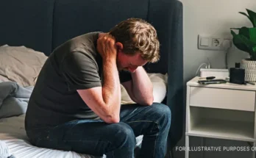
[[[129,97],[138,104],[149,106],[153,104],[153,85],[142,66],[132,74],[132,80],[121,83],[124,85]]]

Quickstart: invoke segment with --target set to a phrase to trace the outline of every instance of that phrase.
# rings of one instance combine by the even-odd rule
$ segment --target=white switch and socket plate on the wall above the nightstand
[[[231,35],[199,35],[198,49],[224,51],[232,46]]]

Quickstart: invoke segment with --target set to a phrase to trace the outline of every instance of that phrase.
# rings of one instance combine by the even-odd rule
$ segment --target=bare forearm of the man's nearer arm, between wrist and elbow
[[[102,97],[104,102],[113,115],[119,114],[121,107],[121,90],[115,61],[103,61],[103,78]]]

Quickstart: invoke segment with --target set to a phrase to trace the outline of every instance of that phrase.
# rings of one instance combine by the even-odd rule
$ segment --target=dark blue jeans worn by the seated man
[[[75,120],[51,129],[28,131],[33,145],[64,151],[76,151],[107,158],[134,157],[135,137],[143,135],[140,158],[163,158],[171,125],[171,110],[164,104],[143,107],[121,105],[120,122]]]

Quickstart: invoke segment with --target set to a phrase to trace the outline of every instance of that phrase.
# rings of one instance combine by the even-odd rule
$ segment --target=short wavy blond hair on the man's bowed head
[[[160,59],[159,40],[154,27],[141,18],[129,18],[110,29],[110,35],[124,46],[124,53],[141,53],[143,60],[157,62]]]

